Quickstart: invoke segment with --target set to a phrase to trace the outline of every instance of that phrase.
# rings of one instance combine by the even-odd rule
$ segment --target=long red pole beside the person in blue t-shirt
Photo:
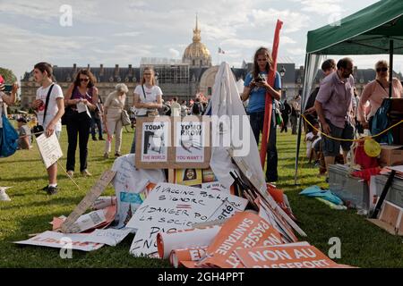
[[[276,30],[274,32],[273,39],[273,48],[271,51],[271,56],[273,58],[273,65],[269,71],[269,75],[267,77],[267,82],[271,87],[274,87],[274,81],[276,79],[276,71],[277,71],[277,54],[279,51],[279,31],[283,25],[282,21],[277,21]],[[262,146],[261,146],[261,163],[262,168],[264,168],[264,163],[266,162],[266,151],[267,151],[267,143],[270,138],[270,126],[271,126],[271,114],[273,110],[273,98],[269,93],[266,93],[266,105],[264,108],[264,122],[263,122],[263,132],[262,132]],[[257,142],[259,143],[259,142]]]

